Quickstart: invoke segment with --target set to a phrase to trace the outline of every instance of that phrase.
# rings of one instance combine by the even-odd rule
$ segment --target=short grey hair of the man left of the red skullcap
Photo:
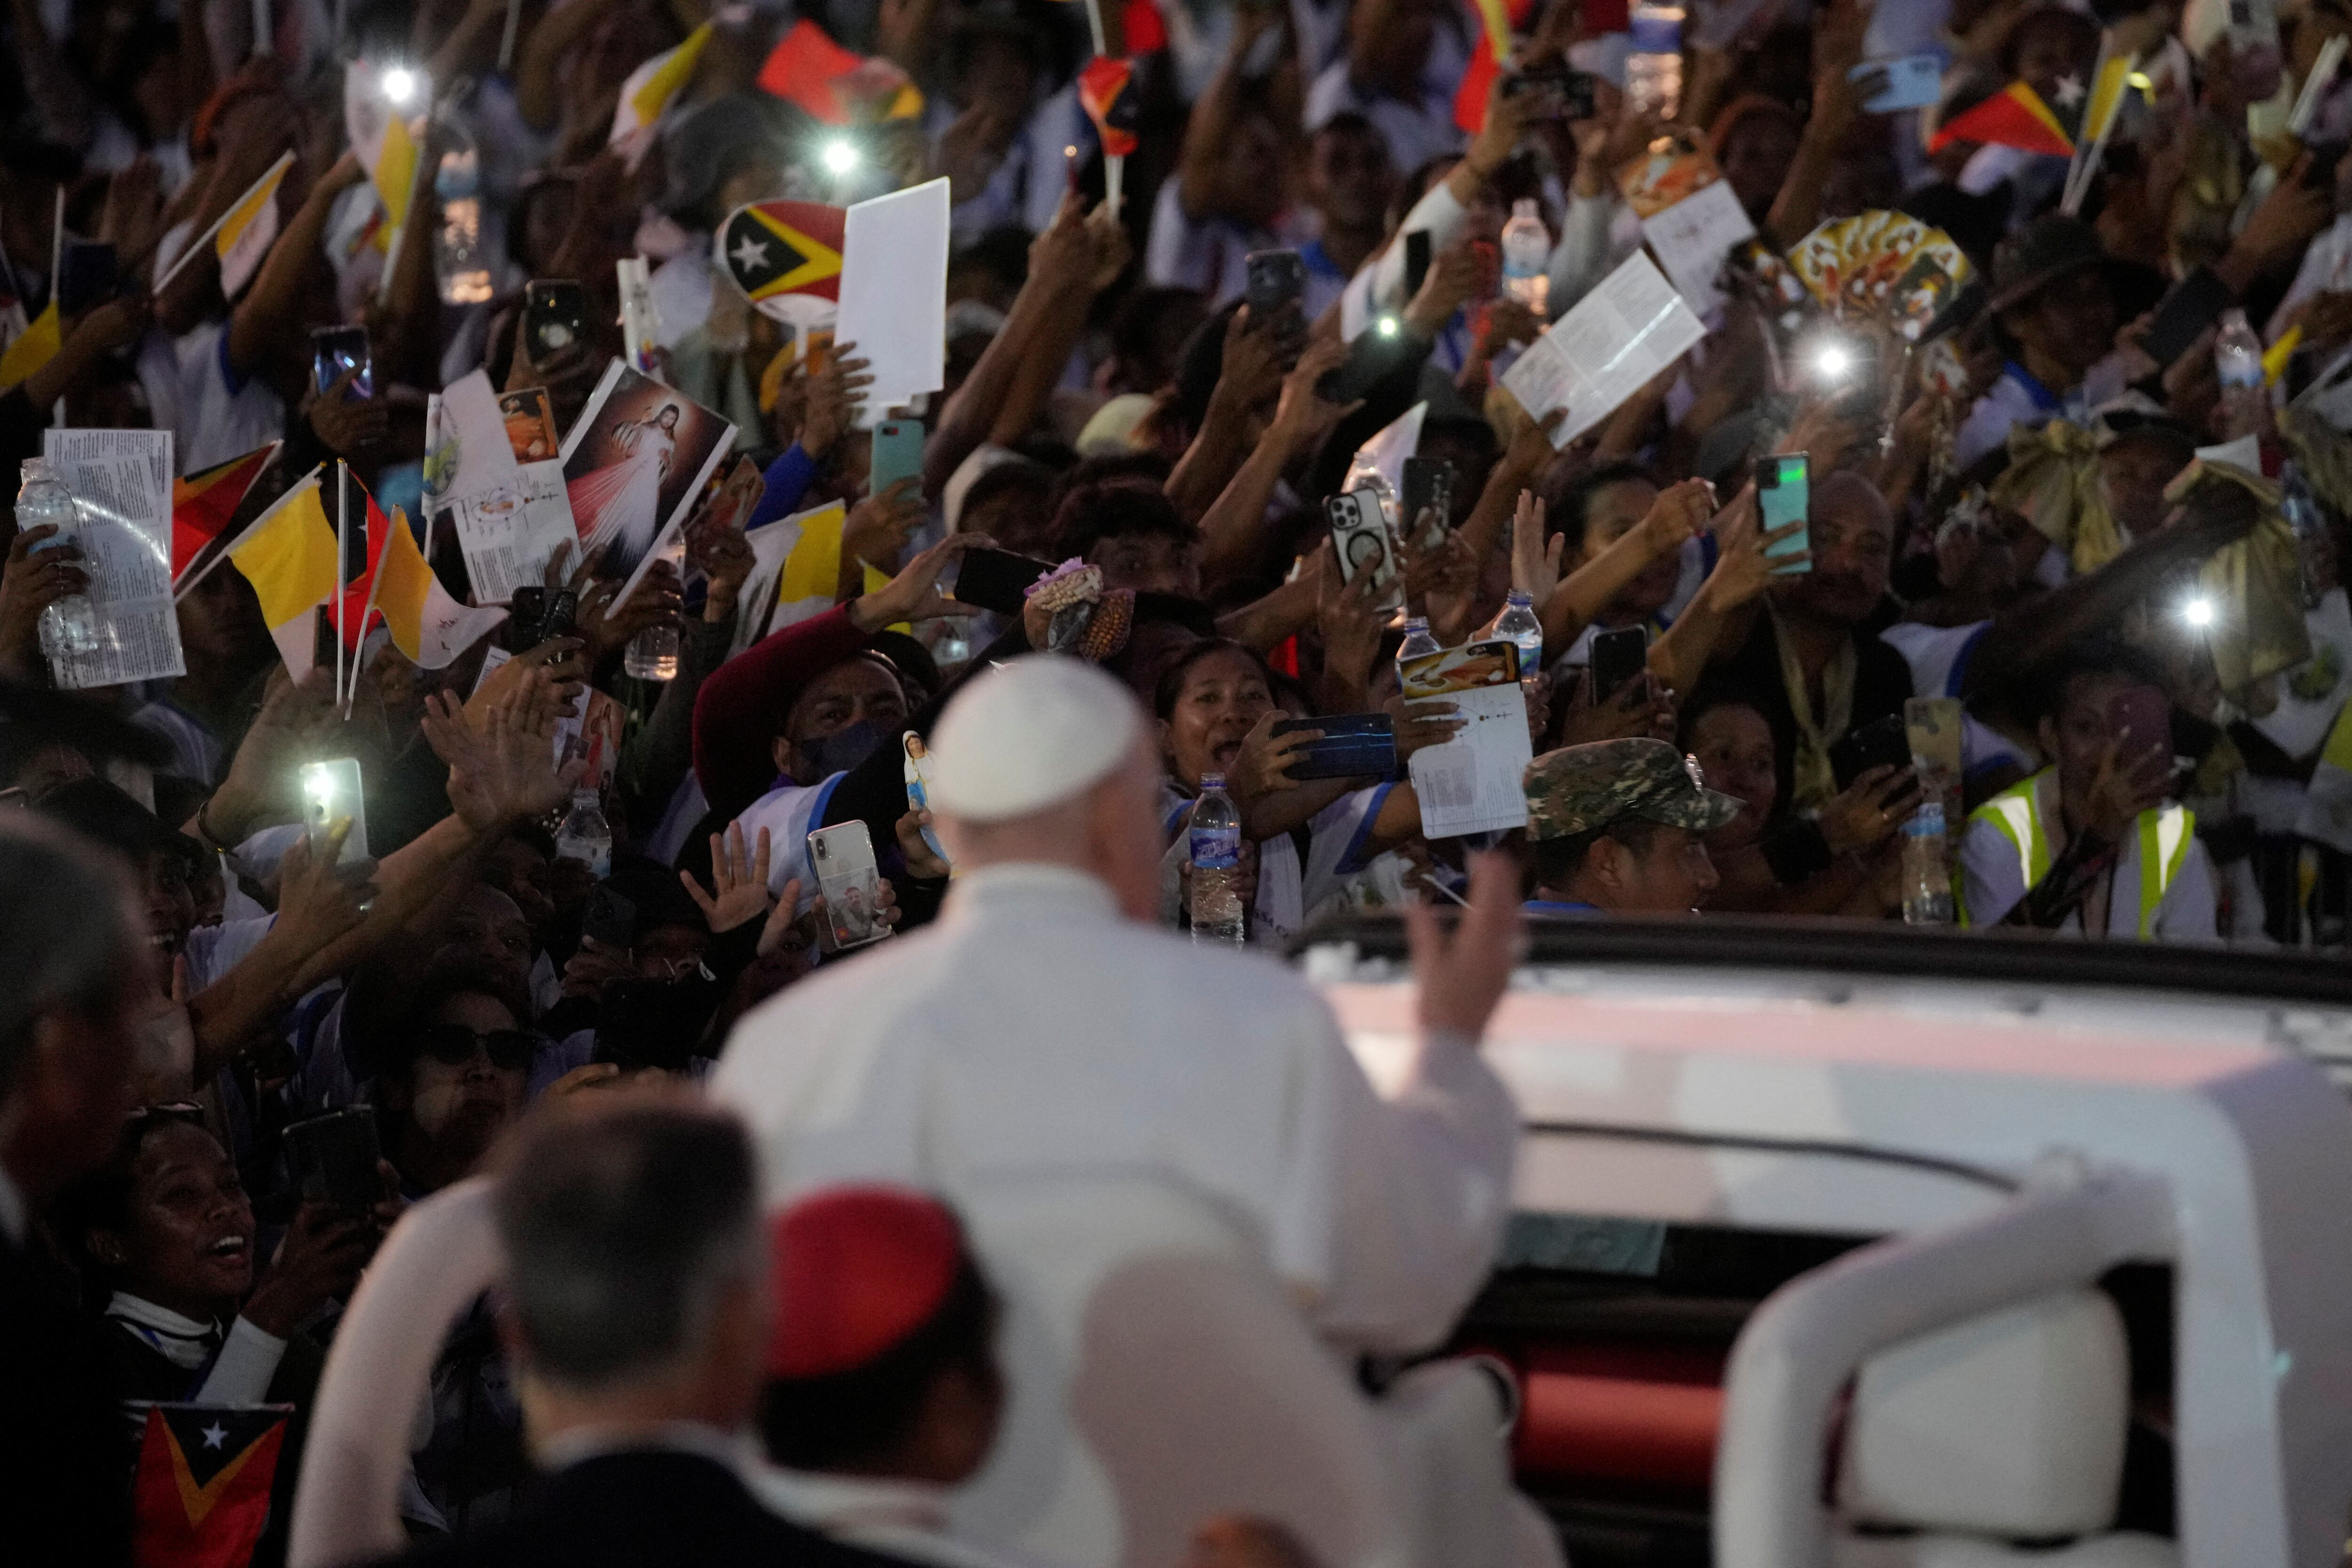
[[[767,1262],[750,1138],[696,1105],[534,1119],[501,1159],[496,1213],[534,1371],[569,1387],[684,1361]]]

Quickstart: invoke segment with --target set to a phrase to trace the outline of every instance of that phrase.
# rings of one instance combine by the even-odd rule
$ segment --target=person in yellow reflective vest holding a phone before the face
[[[1994,795],[1959,842],[1962,924],[2126,943],[2213,943],[2213,860],[2166,799],[2171,703],[2129,649],[2091,646],[2046,686],[2058,762]]]

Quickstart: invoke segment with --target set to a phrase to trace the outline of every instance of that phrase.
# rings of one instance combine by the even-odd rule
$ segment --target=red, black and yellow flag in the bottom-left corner
[[[292,1413],[294,1406],[146,1406],[132,1483],[134,1568],[245,1568],[270,1516]]]

